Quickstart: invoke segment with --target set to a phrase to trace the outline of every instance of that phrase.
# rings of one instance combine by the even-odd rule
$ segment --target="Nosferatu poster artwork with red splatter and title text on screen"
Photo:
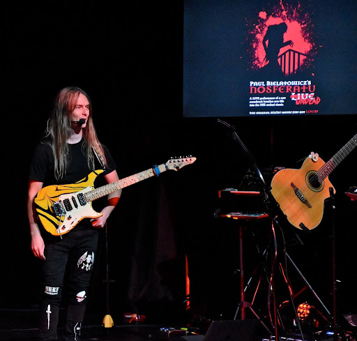
[[[268,7],[268,6],[267,6]],[[317,114],[314,24],[301,3],[280,1],[247,19],[249,114]]]

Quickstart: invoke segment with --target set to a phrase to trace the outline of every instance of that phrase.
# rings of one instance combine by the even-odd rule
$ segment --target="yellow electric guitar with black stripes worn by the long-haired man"
[[[38,218],[43,227],[60,236],[70,232],[84,218],[99,218],[102,213],[94,211],[91,202],[104,197],[121,188],[128,187],[139,181],[158,176],[169,169],[179,170],[185,165],[195,162],[196,158],[172,158],[162,165],[146,169],[144,172],[128,176],[114,183],[94,188],[94,181],[102,169],[91,172],[84,179],[70,185],[50,185],[42,188],[34,199]]]

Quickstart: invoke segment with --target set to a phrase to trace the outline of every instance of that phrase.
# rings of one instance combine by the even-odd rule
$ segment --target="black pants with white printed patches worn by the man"
[[[97,244],[98,230],[81,226],[63,235],[62,239],[45,243],[40,303],[41,340],[57,340],[63,280],[66,280],[68,303],[65,340],[78,340]]]

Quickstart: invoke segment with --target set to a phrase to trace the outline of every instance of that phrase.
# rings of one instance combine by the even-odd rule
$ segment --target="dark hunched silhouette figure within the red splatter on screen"
[[[294,43],[291,40],[284,42],[284,33],[287,32],[287,24],[282,22],[281,24],[268,26],[268,30],[263,39],[263,46],[265,50],[264,68],[272,70],[274,73],[282,73],[282,68],[278,63],[278,56],[280,49],[287,45],[293,46]]]

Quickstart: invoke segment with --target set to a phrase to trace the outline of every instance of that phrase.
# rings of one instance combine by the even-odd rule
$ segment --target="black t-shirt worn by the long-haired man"
[[[107,159],[105,174],[116,169],[116,164],[106,146],[102,145]],[[47,185],[63,185],[75,183],[84,179],[93,169],[89,168],[86,156],[82,152],[82,141],[76,144],[68,144],[68,167],[63,179],[57,181],[54,177],[54,155],[52,148],[47,143],[40,143],[33,153],[33,159],[29,170],[29,179],[43,182]],[[103,169],[95,156],[95,169]]]

